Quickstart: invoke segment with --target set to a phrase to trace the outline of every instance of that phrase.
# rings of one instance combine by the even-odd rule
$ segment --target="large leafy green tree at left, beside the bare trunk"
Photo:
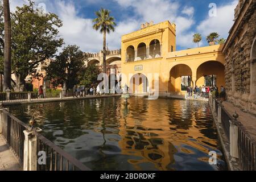
[[[15,75],[14,90],[24,90],[25,78],[34,75],[38,64],[54,56],[63,45],[58,28],[62,22],[56,14],[34,7],[34,2],[16,7],[11,14],[12,71]]]

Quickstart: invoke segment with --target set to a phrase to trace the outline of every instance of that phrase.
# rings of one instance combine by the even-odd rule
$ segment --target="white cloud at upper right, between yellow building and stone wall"
[[[226,38],[234,23],[234,9],[237,3],[238,1],[233,1],[228,5],[217,6],[217,16],[207,16],[207,18],[197,26],[197,31],[203,36],[207,36],[210,32],[218,32],[221,37]]]

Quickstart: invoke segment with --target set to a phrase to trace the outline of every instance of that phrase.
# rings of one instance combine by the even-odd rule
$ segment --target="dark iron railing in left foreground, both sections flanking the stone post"
[[[31,127],[20,121],[2,109],[0,118],[0,134],[2,134],[8,146],[13,150],[18,157],[20,164],[23,165],[24,160],[24,130],[31,130]],[[36,147],[36,154],[39,151],[46,152],[46,165],[39,165],[37,163],[38,171],[88,171],[88,167],[84,166],[79,160],[67,154],[60,147],[49,141],[43,135],[33,131],[38,146]],[[38,159],[37,159],[38,160]]]

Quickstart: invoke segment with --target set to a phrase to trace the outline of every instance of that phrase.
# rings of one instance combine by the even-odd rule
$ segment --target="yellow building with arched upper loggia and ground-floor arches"
[[[189,85],[210,86],[205,76],[211,76],[220,88],[225,86],[222,47],[176,51],[174,23],[142,24],[141,30],[122,36],[122,85],[138,94],[184,93]]]

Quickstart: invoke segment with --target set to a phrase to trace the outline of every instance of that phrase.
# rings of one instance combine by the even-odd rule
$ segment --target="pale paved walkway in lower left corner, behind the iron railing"
[[[22,171],[18,160],[10,151],[0,134],[0,171]]]

